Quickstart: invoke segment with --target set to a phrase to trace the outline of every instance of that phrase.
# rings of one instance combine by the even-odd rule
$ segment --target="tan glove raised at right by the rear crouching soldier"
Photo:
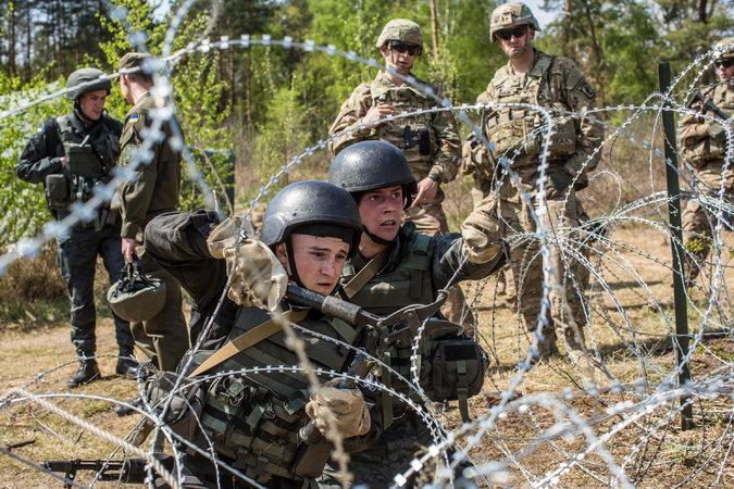
[[[485,197],[461,225],[462,252],[471,263],[488,263],[502,251],[494,196]]]

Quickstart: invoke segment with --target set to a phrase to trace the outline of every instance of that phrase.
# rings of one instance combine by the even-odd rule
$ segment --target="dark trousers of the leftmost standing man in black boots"
[[[60,213],[64,218],[66,213]],[[120,225],[105,225],[95,230],[89,226],[75,226],[57,237],[57,264],[66,284],[71,302],[72,343],[79,356],[94,355],[96,348],[97,310],[95,308],[95,271],[97,256],[101,256],[110,284],[120,278],[124,266]],[[120,354],[133,353],[133,336],[126,321],[114,316],[115,337]]]

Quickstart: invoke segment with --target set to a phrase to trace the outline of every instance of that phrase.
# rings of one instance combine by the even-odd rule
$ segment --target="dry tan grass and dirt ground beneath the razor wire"
[[[730,235],[724,238],[726,246],[733,240]],[[723,252],[725,265],[732,260],[727,250]],[[638,487],[711,487],[717,482],[733,487],[734,464],[727,461],[733,440],[727,377],[724,376],[726,397],[694,397],[691,430],[681,429],[674,397],[671,402],[655,402],[660,379],[669,376],[675,365],[669,336],[674,329],[673,310],[648,306],[650,297],[661,300],[672,293],[672,275],[661,265],[670,262],[670,242],[657,229],[620,228],[604,253],[597,266],[599,276],[587,291],[592,308],[587,346],[594,360],[604,364],[593,374],[598,391],[584,383],[583,372],[567,358],[535,365],[515,383],[515,400],[503,415],[493,416],[494,425],[486,426],[471,456],[480,466],[499,461],[507,467],[497,475],[500,487],[530,487],[546,477],[544,485],[604,487],[618,467]],[[732,271],[726,266],[724,284],[732,281],[730,275]],[[471,402],[473,418],[488,413],[498,401],[498,392],[513,385],[519,359],[527,351],[528,337],[524,328],[518,327],[517,311],[506,304],[503,296],[495,293],[495,287],[494,278],[464,287],[469,299],[481,290],[483,346],[494,358],[485,396]],[[726,368],[724,373],[731,372],[732,337],[717,333],[731,330],[729,293],[725,289],[719,293],[717,303],[721,310],[714,309],[706,322],[711,335],[693,349],[694,381],[711,378],[711,373],[721,373],[722,367]],[[692,293],[688,319],[694,331],[701,328],[709,297],[709,292],[700,290]],[[76,364],[64,365],[74,360],[65,321],[5,324],[0,339],[0,396],[10,388],[28,386],[29,391],[48,394],[51,402],[119,437],[124,437],[137,422],[135,416],[119,418],[112,412],[109,399],[130,399],[137,393],[134,381],[113,375],[112,358],[100,360],[100,381],[67,393],[65,383]],[[98,353],[115,354],[110,318],[102,318],[99,325]],[[605,389],[612,384],[619,389]],[[82,393],[98,398],[76,397]],[[624,401],[626,408],[621,404]],[[456,409],[448,414],[451,419],[459,418]],[[568,423],[575,425],[572,429],[548,431],[553,426],[568,427]],[[14,402],[1,410],[0,424],[0,447],[35,463],[104,457],[115,447],[28,402]],[[456,425],[449,422],[447,426]],[[461,438],[460,442],[466,440]],[[91,481],[88,474],[78,479],[82,484]],[[11,456],[0,456],[0,487],[62,485]]]

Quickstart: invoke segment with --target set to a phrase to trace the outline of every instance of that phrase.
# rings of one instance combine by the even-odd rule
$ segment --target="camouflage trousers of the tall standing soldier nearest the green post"
[[[550,317],[542,331],[555,337],[555,328],[560,329],[569,347],[577,350],[584,342],[586,316],[582,302],[583,277],[577,274],[582,265],[573,258],[573,253],[579,252],[576,197],[572,189],[569,192],[568,201],[564,195],[557,200],[547,200],[545,212],[536,210],[548,230],[552,267],[547,281]],[[513,185],[503,184],[499,197],[500,233],[513,246],[510,267],[518,287],[518,308],[525,327],[532,331],[538,324],[544,287],[543,256],[536,224]],[[518,241],[518,238],[522,239]]]

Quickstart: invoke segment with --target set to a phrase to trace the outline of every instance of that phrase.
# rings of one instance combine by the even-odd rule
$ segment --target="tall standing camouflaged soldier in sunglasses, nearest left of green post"
[[[581,113],[596,108],[596,92],[584,78],[583,73],[569,59],[548,55],[532,47],[539,26],[531,10],[521,2],[505,3],[492,14],[490,36],[499,42],[510,58],[507,65],[495,74],[486,92],[477,103],[490,103],[481,111],[484,137],[494,142],[489,151],[480,145],[472,151],[473,162],[484,178],[497,181],[498,217],[503,236],[515,233],[534,234],[535,223],[530,216],[523,193],[545,192],[545,225],[555,235],[559,226],[576,227],[580,216],[576,212],[574,185],[583,181],[587,172],[598,164],[598,152],[594,149],[602,140],[602,129],[588,116],[569,117],[569,113]],[[501,105],[498,105],[501,104]],[[549,141],[544,139],[544,122],[538,111],[522,104],[539,104],[557,120]],[[537,188],[539,163],[544,149],[548,150],[548,168],[545,188]],[[509,159],[511,170],[520,179],[515,186],[502,174],[501,159]],[[539,209],[536,209],[539,211]],[[575,242],[575,233],[564,235]],[[558,235],[557,235],[558,236]],[[551,321],[544,325],[539,339],[539,358],[558,354],[555,327],[563,331],[569,353],[574,361],[585,355],[584,331],[586,317],[582,306],[582,290],[574,287],[575,264],[558,246],[551,247],[555,273],[551,278]],[[511,253],[511,267],[519,290],[519,308],[528,330],[534,330],[543,293],[543,262],[538,253],[538,241],[518,246]],[[568,306],[567,306],[568,305]],[[555,327],[553,327],[555,325]]]

